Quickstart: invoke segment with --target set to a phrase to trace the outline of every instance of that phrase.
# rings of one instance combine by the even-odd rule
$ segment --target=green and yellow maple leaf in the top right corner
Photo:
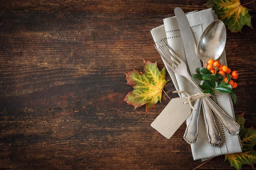
[[[253,28],[248,12],[250,10],[241,6],[240,0],[209,0],[204,5],[212,7],[231,32],[241,32],[244,25]]]

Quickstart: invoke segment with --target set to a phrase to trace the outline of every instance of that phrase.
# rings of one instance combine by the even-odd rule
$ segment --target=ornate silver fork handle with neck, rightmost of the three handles
[[[189,74],[184,75],[189,82],[192,83],[192,85],[198,90],[198,92],[202,93],[202,89],[195,83],[195,81],[190,77]],[[230,135],[237,135],[240,130],[240,125],[232,119],[229,115],[227,115],[226,112],[224,112],[215,102],[212,101],[209,97],[204,97],[204,100],[207,102],[207,104],[210,106],[212,111],[215,113],[215,115],[218,117],[218,119],[221,121],[224,128],[227,130],[227,132]]]

